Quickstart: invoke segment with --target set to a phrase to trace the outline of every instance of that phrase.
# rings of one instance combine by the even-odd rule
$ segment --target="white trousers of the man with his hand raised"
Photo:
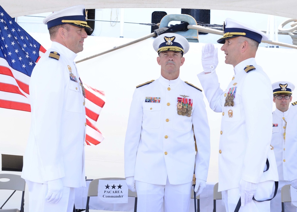
[[[257,192],[255,194],[256,200],[267,200],[272,197],[274,192],[274,181],[265,181],[258,183]],[[222,191],[225,200],[226,212],[234,212],[237,202],[239,200],[240,194],[239,189],[229,189]],[[249,204],[241,206],[239,212],[270,212],[270,201],[257,202],[252,200]]]

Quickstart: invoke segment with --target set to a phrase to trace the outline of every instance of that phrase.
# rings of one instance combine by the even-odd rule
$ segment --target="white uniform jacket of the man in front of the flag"
[[[59,60],[50,58],[50,52],[59,53]],[[32,72],[32,119],[22,172],[26,180],[46,183],[62,178],[63,186],[86,186],[86,112],[75,57],[74,52],[53,42]],[[70,71],[77,82],[70,80]]]

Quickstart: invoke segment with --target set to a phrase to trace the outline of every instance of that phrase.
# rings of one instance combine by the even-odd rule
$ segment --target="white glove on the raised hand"
[[[214,48],[212,43],[207,43],[202,47],[202,67],[204,72],[211,72],[216,69],[218,60],[218,48]]]

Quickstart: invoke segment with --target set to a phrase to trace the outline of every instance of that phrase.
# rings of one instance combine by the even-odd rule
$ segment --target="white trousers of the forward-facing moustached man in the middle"
[[[192,182],[171,185],[154,185],[136,181],[137,212],[188,212]],[[164,209],[162,210],[162,206]]]

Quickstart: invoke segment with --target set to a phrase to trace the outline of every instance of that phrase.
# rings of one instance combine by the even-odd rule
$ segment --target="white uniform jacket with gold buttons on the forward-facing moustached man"
[[[149,97],[157,97],[160,101],[149,102],[146,100]],[[190,117],[178,115],[178,98],[192,102]],[[196,158],[192,125],[198,148]],[[165,185],[168,176],[170,184],[184,184],[192,181],[196,164],[196,178],[206,181],[210,131],[202,92],[179,77],[167,80],[160,76],[154,82],[136,88],[124,151],[125,177],[134,176],[137,181]]]

